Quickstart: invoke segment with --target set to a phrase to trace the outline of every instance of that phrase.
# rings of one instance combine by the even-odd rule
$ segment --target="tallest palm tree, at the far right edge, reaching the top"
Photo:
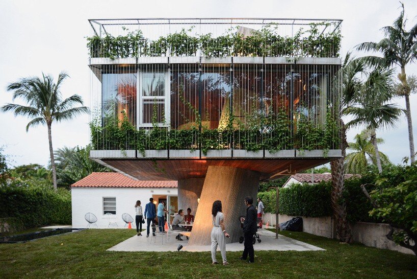
[[[357,45],[359,51],[381,52],[383,57],[363,57],[368,63],[377,66],[400,66],[401,73],[398,78],[401,82],[399,93],[405,98],[406,117],[408,124],[408,141],[410,145],[411,164],[415,161],[414,141],[410,111],[410,87],[405,74],[405,66],[417,59],[417,24],[409,31],[405,30],[407,19],[404,18],[404,4],[401,3],[401,13],[393,22],[393,26],[385,26],[382,32],[385,38],[379,42],[363,42]]]

